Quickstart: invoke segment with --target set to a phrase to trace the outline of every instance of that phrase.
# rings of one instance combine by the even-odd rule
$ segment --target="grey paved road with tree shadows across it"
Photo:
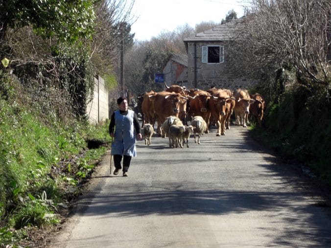
[[[109,176],[54,247],[331,247],[330,208],[291,169],[233,127],[201,145],[139,141],[129,177]]]

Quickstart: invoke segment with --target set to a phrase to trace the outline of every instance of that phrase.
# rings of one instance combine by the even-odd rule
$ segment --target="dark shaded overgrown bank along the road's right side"
[[[273,90],[260,89],[267,96],[267,110],[263,127],[254,126],[253,134],[331,185],[330,82],[313,85],[293,74],[288,79],[283,86],[274,83]]]

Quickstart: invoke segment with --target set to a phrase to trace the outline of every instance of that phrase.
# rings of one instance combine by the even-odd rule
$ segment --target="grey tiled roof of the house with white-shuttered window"
[[[215,26],[212,29],[184,39],[184,43],[195,41],[229,41],[234,38],[233,30],[237,23],[237,20],[234,20],[229,23]]]

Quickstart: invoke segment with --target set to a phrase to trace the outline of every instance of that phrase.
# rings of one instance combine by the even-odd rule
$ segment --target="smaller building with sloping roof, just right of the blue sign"
[[[165,75],[165,83],[167,85],[183,85],[188,84],[188,55],[187,54],[172,54],[170,60],[166,63],[163,69]]]

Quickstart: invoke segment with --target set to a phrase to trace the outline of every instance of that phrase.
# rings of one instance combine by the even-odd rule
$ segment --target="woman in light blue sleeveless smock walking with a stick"
[[[123,158],[123,177],[127,177],[131,158],[137,156],[136,136],[141,140],[142,134],[136,113],[128,110],[127,99],[119,97],[117,104],[119,110],[112,114],[109,124],[109,134],[113,138],[111,155],[114,156],[114,175],[118,175],[122,168],[120,162]]]

